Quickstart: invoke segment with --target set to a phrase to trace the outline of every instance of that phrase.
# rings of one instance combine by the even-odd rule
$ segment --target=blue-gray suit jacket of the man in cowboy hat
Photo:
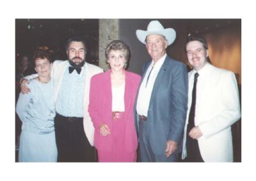
[[[143,66],[143,78],[149,65],[150,61]],[[181,152],[187,105],[188,71],[186,66],[167,55],[154,83],[148,107],[149,141],[155,154],[164,154],[167,140],[176,141],[179,145],[177,152]],[[136,113],[136,104],[134,112],[138,133],[140,120]]]

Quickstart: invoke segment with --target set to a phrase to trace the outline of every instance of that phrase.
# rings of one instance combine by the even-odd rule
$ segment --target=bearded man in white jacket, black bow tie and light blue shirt
[[[51,71],[58,162],[93,162],[94,128],[88,113],[90,78],[102,69],[85,62],[86,44],[82,38],[70,38],[66,50],[68,61],[54,61]],[[21,83],[22,92],[29,91],[25,83]]]

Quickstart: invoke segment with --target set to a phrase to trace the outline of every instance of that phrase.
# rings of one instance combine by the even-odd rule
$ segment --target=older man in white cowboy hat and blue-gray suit
[[[136,35],[152,57],[143,66],[134,106],[141,161],[175,162],[181,152],[186,120],[188,71],[185,64],[166,54],[176,38],[174,29],[164,29],[153,20],[147,31],[137,30]]]

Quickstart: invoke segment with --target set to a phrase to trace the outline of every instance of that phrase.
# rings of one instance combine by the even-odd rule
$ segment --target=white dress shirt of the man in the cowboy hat
[[[157,61],[155,64],[154,64],[154,61],[152,60],[150,66],[148,66],[147,72],[142,80],[139,94],[138,94],[136,110],[139,115],[144,115],[145,117],[147,117],[148,115],[148,106],[149,106],[152,90],[154,87],[154,83],[156,81],[156,77],[159,73],[159,70],[163,66],[165,58],[166,58],[166,54],[164,54],[163,57],[159,59],[159,61]],[[153,64],[154,64],[154,68],[152,69]],[[150,73],[151,69],[152,71]],[[149,73],[150,73],[150,76],[148,78]],[[148,83],[147,83],[147,79],[148,79]]]

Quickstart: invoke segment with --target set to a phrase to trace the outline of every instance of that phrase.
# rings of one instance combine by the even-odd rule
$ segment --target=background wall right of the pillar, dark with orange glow
[[[155,19],[120,19],[120,40],[131,49],[129,70],[141,73],[146,61],[150,61],[147,49],[136,38],[136,30],[147,30],[147,25]],[[189,34],[205,36],[209,43],[212,64],[229,69],[237,75],[241,83],[241,19],[157,19],[164,28],[172,27],[177,38],[167,48],[170,57],[188,64],[184,46]],[[189,65],[188,65],[189,66]]]

